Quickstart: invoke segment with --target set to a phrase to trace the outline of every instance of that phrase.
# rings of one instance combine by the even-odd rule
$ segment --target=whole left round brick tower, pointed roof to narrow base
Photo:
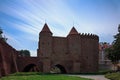
[[[39,34],[39,44],[37,56],[40,62],[43,63],[43,72],[50,71],[50,57],[52,54],[52,32],[48,25],[45,23],[43,29]]]

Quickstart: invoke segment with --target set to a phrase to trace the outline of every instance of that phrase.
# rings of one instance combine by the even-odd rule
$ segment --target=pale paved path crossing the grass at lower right
[[[71,76],[90,78],[90,79],[94,79],[94,80],[109,80],[109,79],[105,78],[104,75],[71,75]]]

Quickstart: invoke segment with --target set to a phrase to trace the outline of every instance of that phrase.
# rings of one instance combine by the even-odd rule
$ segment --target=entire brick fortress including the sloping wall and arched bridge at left
[[[50,72],[54,67],[61,73],[98,71],[97,35],[80,34],[73,27],[67,37],[55,37],[45,23],[39,34],[37,57],[25,57],[5,41],[2,33],[0,29],[0,77],[15,72]]]

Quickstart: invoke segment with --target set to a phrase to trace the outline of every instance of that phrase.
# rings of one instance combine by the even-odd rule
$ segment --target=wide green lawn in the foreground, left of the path
[[[0,80],[92,80],[63,74],[43,74],[43,73],[15,73]]]

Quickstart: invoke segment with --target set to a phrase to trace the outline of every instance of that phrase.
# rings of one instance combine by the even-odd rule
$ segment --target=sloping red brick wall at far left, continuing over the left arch
[[[18,51],[3,40],[0,40],[0,77],[23,71],[29,64],[34,64],[36,67],[42,66],[37,57],[19,57]]]

